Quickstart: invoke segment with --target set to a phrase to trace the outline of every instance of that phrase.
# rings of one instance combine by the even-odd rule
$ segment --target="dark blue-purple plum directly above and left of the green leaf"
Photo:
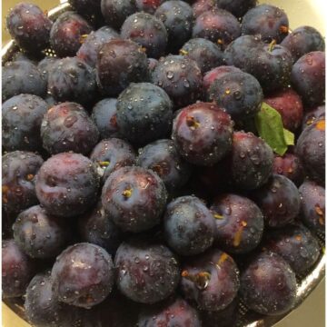
[[[263,89],[258,80],[243,72],[224,74],[215,79],[208,94],[235,122],[253,117],[263,104]]]

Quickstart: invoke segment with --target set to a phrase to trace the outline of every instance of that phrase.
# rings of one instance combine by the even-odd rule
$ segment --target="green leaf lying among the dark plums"
[[[262,104],[254,121],[259,136],[272,147],[276,154],[285,154],[288,145],[294,144],[294,134],[283,128],[281,114],[269,104]]]

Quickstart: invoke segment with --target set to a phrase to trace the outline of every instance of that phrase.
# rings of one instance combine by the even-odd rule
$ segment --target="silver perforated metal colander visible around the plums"
[[[71,10],[70,5],[62,4],[54,7],[48,12],[50,19],[55,20],[59,15],[63,14],[65,11]],[[19,51],[19,47],[15,45],[14,41],[10,41],[7,45],[2,48],[2,64],[10,61],[12,56]],[[51,54],[51,50],[48,50]],[[324,248],[324,236],[318,235],[320,244]],[[315,264],[314,268],[310,273],[302,276],[298,279],[298,289],[296,294],[295,306],[292,308],[294,310],[304,302],[304,300],[311,294],[311,292],[318,286],[325,274],[325,260],[326,255],[323,253]],[[25,319],[25,312],[22,299],[11,299],[5,300],[5,304],[13,310],[19,317]],[[280,322],[284,317],[286,317],[290,312],[285,312],[281,315],[274,316],[264,316],[255,312],[251,312],[247,309],[246,305],[241,301],[238,310],[238,321],[236,323],[237,327],[269,327],[273,326],[275,323]]]

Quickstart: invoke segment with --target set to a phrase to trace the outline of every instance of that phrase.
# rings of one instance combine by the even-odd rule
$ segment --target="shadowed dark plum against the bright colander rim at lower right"
[[[263,247],[265,251],[279,254],[300,276],[309,272],[321,253],[318,240],[300,224],[266,233]]]

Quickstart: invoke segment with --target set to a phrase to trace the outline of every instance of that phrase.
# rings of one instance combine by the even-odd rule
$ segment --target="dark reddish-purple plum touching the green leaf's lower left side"
[[[261,138],[251,133],[233,133],[230,169],[234,185],[244,190],[259,188],[272,174],[272,164],[272,148]]]

